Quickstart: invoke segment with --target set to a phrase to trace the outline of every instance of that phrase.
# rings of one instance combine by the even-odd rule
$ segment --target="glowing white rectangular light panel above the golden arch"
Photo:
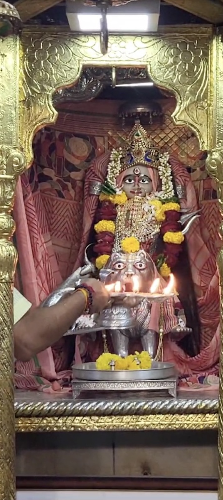
[[[100,31],[101,18],[101,14],[77,14],[79,30]],[[107,14],[108,29],[111,32],[150,31],[149,21],[147,14]]]

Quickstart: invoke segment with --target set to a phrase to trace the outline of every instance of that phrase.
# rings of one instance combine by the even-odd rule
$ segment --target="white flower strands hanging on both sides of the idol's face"
[[[120,188],[116,186],[116,179],[121,172],[122,148],[112,149],[110,162],[108,165],[107,180],[120,193]],[[160,164],[158,165],[158,173],[162,182],[161,191],[159,191],[160,199],[171,199],[174,196],[172,170],[169,164],[169,153],[163,153],[159,157]],[[149,166],[149,165],[148,165]]]

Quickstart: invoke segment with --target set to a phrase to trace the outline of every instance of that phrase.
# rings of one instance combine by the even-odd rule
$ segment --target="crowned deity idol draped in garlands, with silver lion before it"
[[[100,202],[94,226],[98,269],[109,268],[125,291],[132,291],[134,275],[140,291],[149,291],[154,278],[164,287],[173,272],[179,292],[163,304],[144,299],[134,307],[134,328],[110,330],[115,352],[126,356],[129,338],[141,337],[142,348],[160,359],[168,334],[188,354],[197,354],[200,322],[185,241],[196,214],[182,215],[168,153],[159,151],[139,123],[124,146],[112,150]]]

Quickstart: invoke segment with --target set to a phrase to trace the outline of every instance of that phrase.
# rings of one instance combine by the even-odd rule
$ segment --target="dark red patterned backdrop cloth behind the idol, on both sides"
[[[128,130],[127,127],[120,125],[117,118],[121,103],[120,101],[105,100],[64,104],[63,107],[60,107],[59,117],[54,128],[44,129],[36,136],[35,163],[38,172],[38,188],[44,195],[46,209],[52,217],[50,232],[57,259],[61,269],[63,269],[63,277],[70,272],[66,267],[69,258],[71,257],[69,264],[72,270],[77,255],[78,240],[81,234],[85,170],[95,156],[99,156],[111,148],[113,142],[115,145],[116,133],[123,134]],[[175,108],[175,100],[170,98],[160,103],[164,111],[163,124],[161,126],[151,125],[148,129],[159,147],[167,149],[178,157],[191,173],[199,204],[202,207],[204,240],[209,249],[216,254],[220,245],[217,234],[221,216],[215,182],[208,176],[205,169],[206,155],[201,154],[198,140],[191,130],[173,123],[171,113]],[[108,137],[108,132],[114,132],[113,142],[112,135]],[[36,187],[32,183],[32,190],[35,189]],[[69,225],[70,221],[66,217],[66,212],[58,210],[58,207],[62,206],[61,199],[72,201],[72,219],[75,217],[75,212],[78,214],[74,234],[72,234],[72,227]],[[54,216],[52,216],[53,213]],[[61,231],[62,227],[63,231]],[[62,250],[60,238],[63,232],[70,234],[72,239],[70,239],[67,248],[64,243]],[[69,251],[71,251],[71,255]]]

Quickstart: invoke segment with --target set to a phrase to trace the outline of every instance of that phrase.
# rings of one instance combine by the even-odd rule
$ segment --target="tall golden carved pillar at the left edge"
[[[14,352],[12,284],[17,254],[11,241],[16,179],[25,167],[19,151],[20,20],[0,2],[0,500],[15,498]]]

